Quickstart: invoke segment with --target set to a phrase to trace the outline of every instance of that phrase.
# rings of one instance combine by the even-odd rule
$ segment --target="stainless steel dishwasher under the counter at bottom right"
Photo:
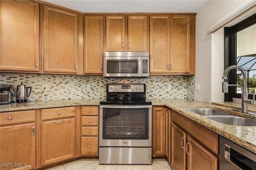
[[[256,170],[256,154],[220,136],[220,170]]]

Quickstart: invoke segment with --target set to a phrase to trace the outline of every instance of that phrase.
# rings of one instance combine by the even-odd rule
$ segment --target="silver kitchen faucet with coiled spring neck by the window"
[[[238,84],[228,84],[227,82],[227,74],[230,70],[232,69],[238,69],[242,72],[242,77],[243,77],[243,81],[242,81],[242,87]],[[248,113],[248,104],[252,104],[254,105],[254,101],[255,101],[255,95],[253,93],[253,99],[248,99],[248,90],[247,90],[247,74],[246,71],[244,70],[244,68],[242,68],[241,66],[238,65],[232,65],[229,66],[228,68],[226,68],[226,70],[224,70],[223,75],[222,75],[222,79],[224,80],[222,82],[222,92],[223,93],[228,93],[228,86],[238,86],[241,88],[242,90],[242,112],[244,113]]]

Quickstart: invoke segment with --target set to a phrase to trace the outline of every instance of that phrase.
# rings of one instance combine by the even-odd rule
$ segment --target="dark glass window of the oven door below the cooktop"
[[[148,108],[103,108],[103,139],[148,139]]]

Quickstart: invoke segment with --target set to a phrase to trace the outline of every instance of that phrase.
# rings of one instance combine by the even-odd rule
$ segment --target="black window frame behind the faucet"
[[[231,65],[236,65],[236,33],[254,25],[256,23],[256,14],[233,25],[224,27],[224,70]],[[236,84],[236,70],[230,70],[228,73],[228,84]],[[229,87],[228,93],[224,94],[225,102],[233,102],[233,98],[241,98],[241,94],[236,93],[236,86]],[[248,95],[252,99],[252,95]]]

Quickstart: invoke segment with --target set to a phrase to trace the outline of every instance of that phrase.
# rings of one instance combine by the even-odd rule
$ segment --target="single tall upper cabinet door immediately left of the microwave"
[[[103,16],[84,16],[84,74],[102,74]]]

